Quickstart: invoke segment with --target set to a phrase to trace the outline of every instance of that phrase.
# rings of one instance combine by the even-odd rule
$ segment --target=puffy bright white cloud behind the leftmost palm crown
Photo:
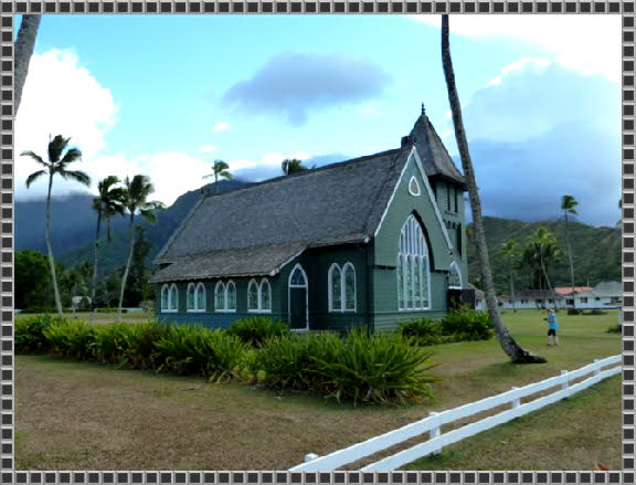
[[[104,136],[115,124],[116,114],[110,89],[78,65],[74,52],[51,50],[33,55],[15,118],[17,196],[41,197],[46,191],[43,180],[26,191],[24,180],[41,167],[19,157],[22,151],[33,150],[45,157],[49,136],[61,134],[72,137],[71,146],[82,149],[83,160],[91,160],[104,149]],[[89,171],[87,162],[77,162],[72,168]],[[54,188],[55,192],[80,189],[64,180],[56,180]]]

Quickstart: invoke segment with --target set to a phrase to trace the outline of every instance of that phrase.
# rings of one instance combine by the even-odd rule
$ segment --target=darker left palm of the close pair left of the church
[[[110,219],[117,214],[124,215],[124,196],[123,187],[115,187],[119,183],[118,177],[108,176],[97,184],[98,196],[93,199],[93,210],[97,212],[97,229],[95,231],[95,255],[93,260],[93,281],[91,284],[91,323],[95,313],[95,291],[97,288],[97,259],[99,254],[99,232],[102,221],[106,221],[106,238],[110,241]]]

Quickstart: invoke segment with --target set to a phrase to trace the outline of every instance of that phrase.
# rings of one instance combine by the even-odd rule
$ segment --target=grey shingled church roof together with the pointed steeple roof
[[[431,129],[422,115],[412,141],[427,175],[443,169],[452,178],[451,158],[436,160],[446,154],[437,147],[437,141],[442,144],[437,135],[422,138]],[[275,274],[307,247],[369,241],[412,149],[413,144],[405,143],[398,149],[203,196],[157,255],[156,264],[169,266],[152,281]]]

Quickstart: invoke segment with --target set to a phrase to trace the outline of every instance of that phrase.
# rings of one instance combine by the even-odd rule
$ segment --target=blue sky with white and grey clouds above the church
[[[147,173],[166,203],[200,187],[216,158],[261,180],[288,156],[321,164],[394,148],[421,103],[455,152],[438,19],[46,15],[17,149],[72,136],[77,168],[95,180]],[[452,17],[451,27],[485,213],[556,217],[572,193],[581,220],[614,223],[619,18]],[[23,188],[32,168],[18,165],[18,200],[44,193]]]

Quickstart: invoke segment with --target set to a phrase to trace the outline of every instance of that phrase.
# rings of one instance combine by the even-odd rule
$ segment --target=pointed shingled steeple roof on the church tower
[[[463,187],[466,186],[464,176],[455,166],[433,124],[424,113],[415,122],[409,137],[417,148],[426,176],[441,176]]]

